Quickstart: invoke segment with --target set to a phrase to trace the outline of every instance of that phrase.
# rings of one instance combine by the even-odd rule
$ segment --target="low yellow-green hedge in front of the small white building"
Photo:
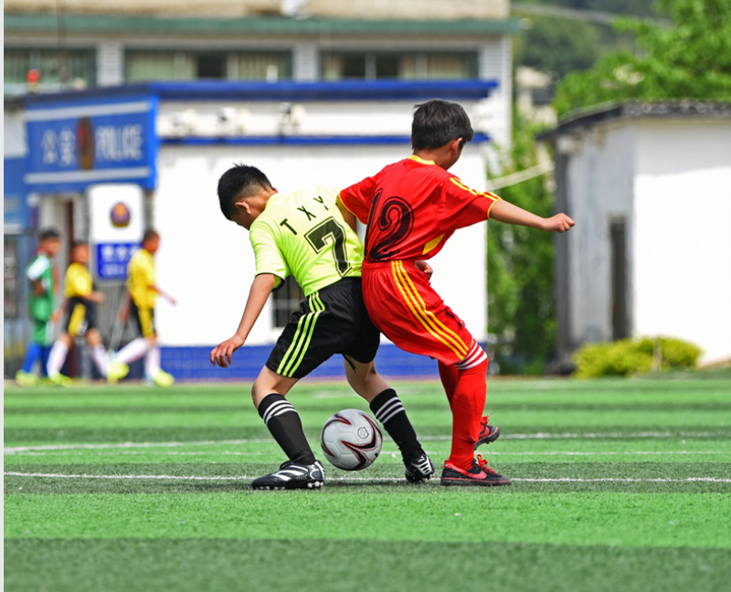
[[[659,342],[659,343],[658,343]],[[655,346],[660,346],[662,370],[694,368],[701,349],[671,337],[621,339],[610,344],[586,344],[574,354],[575,376],[628,376],[650,372]]]

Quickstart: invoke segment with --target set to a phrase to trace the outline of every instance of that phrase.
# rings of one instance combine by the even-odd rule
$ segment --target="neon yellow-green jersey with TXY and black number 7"
[[[309,296],[343,278],[360,277],[363,244],[336,205],[339,190],[315,185],[275,194],[249,228],[257,275],[287,276]]]

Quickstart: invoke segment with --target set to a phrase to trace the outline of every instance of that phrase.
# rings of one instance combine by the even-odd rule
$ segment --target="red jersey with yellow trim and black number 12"
[[[430,259],[457,228],[487,220],[499,199],[414,155],[340,192],[344,206],[368,225],[368,262]]]

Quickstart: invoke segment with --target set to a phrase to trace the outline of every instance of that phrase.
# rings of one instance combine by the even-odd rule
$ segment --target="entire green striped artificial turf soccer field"
[[[689,376],[692,379],[688,379]],[[282,454],[246,385],[5,388],[5,589],[726,590],[731,379],[490,382],[508,488],[413,486],[397,447],[322,492],[252,492]],[[435,463],[437,383],[397,383]],[[344,384],[291,394],[313,449]]]

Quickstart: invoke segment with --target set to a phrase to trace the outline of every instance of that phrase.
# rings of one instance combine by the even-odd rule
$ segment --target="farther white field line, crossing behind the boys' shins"
[[[720,433],[720,432],[718,432]],[[708,438],[715,432],[635,432],[635,433],[588,433],[588,434],[505,434],[500,439],[652,439],[652,438]],[[424,436],[422,441],[448,441],[451,436]],[[76,450],[76,449],[133,449],[133,448],[176,448],[186,446],[219,446],[221,444],[261,444],[273,443],[273,439],[236,439],[236,440],[202,440],[198,442],[120,442],[115,444],[45,444],[38,446],[16,446],[3,449],[4,454],[17,454],[32,450]]]

